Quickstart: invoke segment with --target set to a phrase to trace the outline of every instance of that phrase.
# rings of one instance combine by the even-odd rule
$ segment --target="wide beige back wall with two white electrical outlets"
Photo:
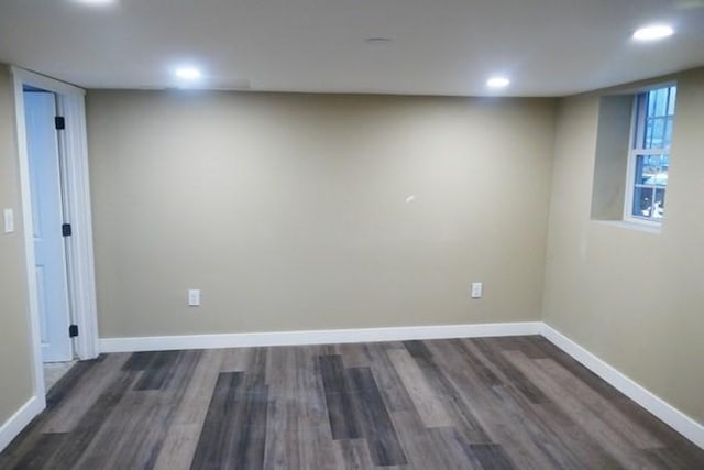
[[[540,317],[553,100],[87,102],[101,337]]]

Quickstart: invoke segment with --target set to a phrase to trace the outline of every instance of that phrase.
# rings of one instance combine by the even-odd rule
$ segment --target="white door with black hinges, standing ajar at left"
[[[73,359],[68,336],[66,253],[62,233],[62,186],[52,92],[25,91],[36,289],[44,362]]]

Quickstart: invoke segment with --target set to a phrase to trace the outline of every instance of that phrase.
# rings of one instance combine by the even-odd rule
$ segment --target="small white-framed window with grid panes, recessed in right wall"
[[[664,218],[676,87],[637,95],[626,189],[626,219],[660,223]]]

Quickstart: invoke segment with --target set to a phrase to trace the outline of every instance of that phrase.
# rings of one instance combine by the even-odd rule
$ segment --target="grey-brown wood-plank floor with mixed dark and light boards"
[[[107,354],[0,468],[704,469],[540,337]]]

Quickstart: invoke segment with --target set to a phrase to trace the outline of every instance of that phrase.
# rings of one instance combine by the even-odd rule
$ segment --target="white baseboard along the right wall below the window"
[[[543,324],[541,335],[619,392],[704,449],[704,426],[607,364],[560,331]]]

